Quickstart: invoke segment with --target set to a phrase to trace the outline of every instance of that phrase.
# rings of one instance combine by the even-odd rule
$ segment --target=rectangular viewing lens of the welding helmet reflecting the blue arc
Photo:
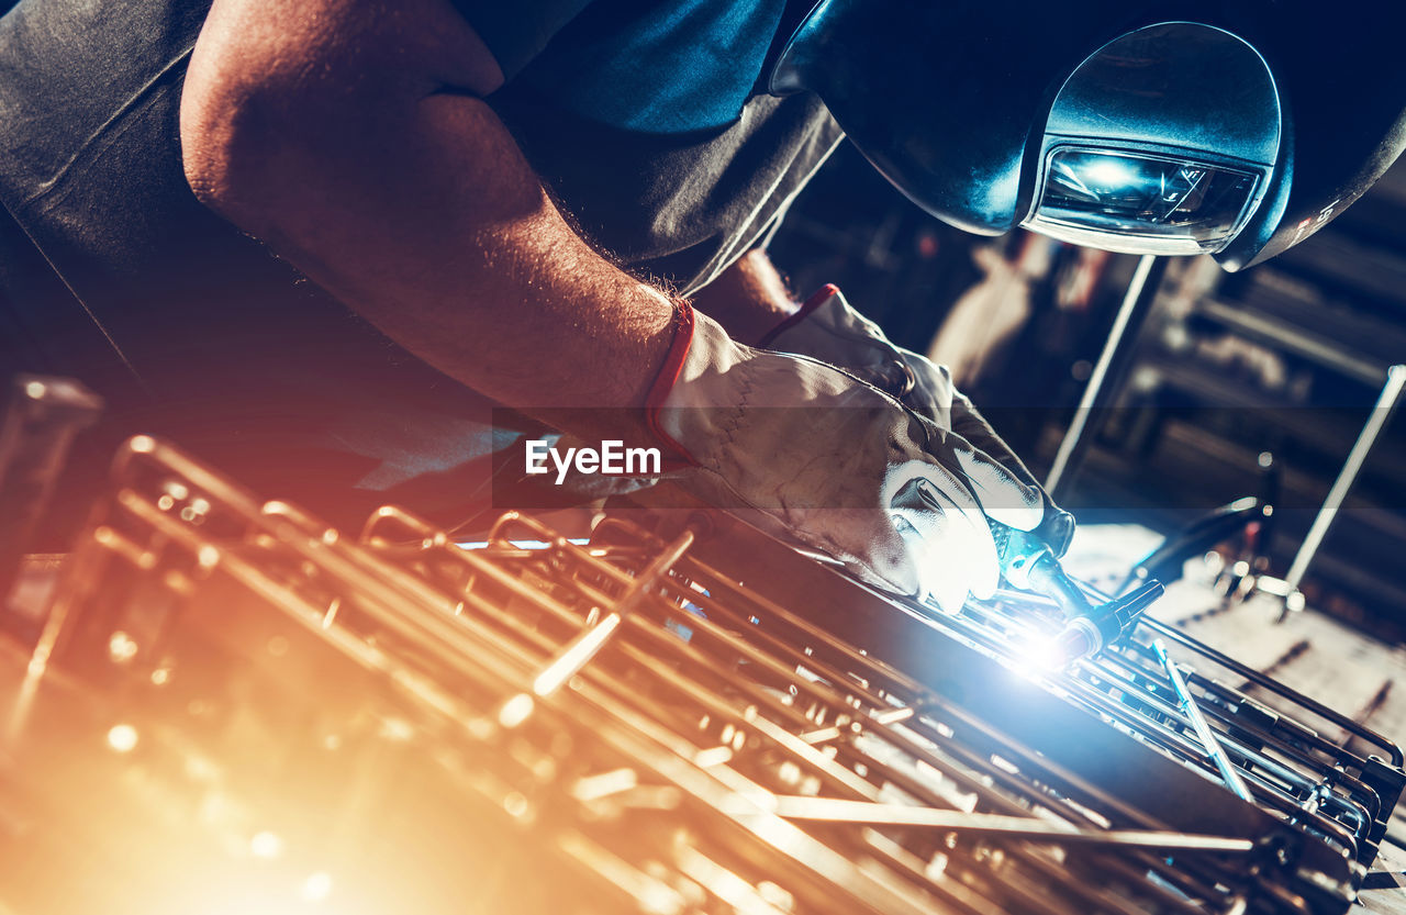
[[[1025,225],[1115,252],[1209,254],[1234,238],[1257,180],[1191,159],[1057,149]]]

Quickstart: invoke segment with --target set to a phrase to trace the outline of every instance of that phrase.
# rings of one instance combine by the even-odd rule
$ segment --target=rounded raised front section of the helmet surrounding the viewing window
[[[1240,38],[1195,22],[1139,28],[1054,96],[1022,225],[1133,254],[1216,253],[1274,177],[1279,118],[1274,77]]]

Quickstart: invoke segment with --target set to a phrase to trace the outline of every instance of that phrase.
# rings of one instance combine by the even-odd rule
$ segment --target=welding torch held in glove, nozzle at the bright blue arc
[[[1021,590],[1049,597],[1064,613],[1064,628],[1054,637],[1060,666],[1081,658],[1092,658],[1123,632],[1130,631],[1137,625],[1143,611],[1164,590],[1161,582],[1149,580],[1123,597],[1095,606],[1064,572],[1064,566],[1045,541],[997,521],[990,524],[1005,580]]]

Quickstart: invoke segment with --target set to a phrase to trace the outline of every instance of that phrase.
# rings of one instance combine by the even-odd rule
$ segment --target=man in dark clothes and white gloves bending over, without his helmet
[[[766,89],[797,25],[858,8],[811,6],[25,0],[0,25],[0,191],[13,260],[52,267],[7,284],[25,351],[67,325],[49,364],[128,422],[333,513],[349,486],[482,496],[478,392],[661,443],[714,500],[956,606],[995,583],[988,517],[1059,516],[842,301],[782,323],[755,246],[841,132]],[[799,45],[794,87],[825,46]],[[1000,229],[986,187],[955,222]],[[858,377],[896,360],[891,394]]]

